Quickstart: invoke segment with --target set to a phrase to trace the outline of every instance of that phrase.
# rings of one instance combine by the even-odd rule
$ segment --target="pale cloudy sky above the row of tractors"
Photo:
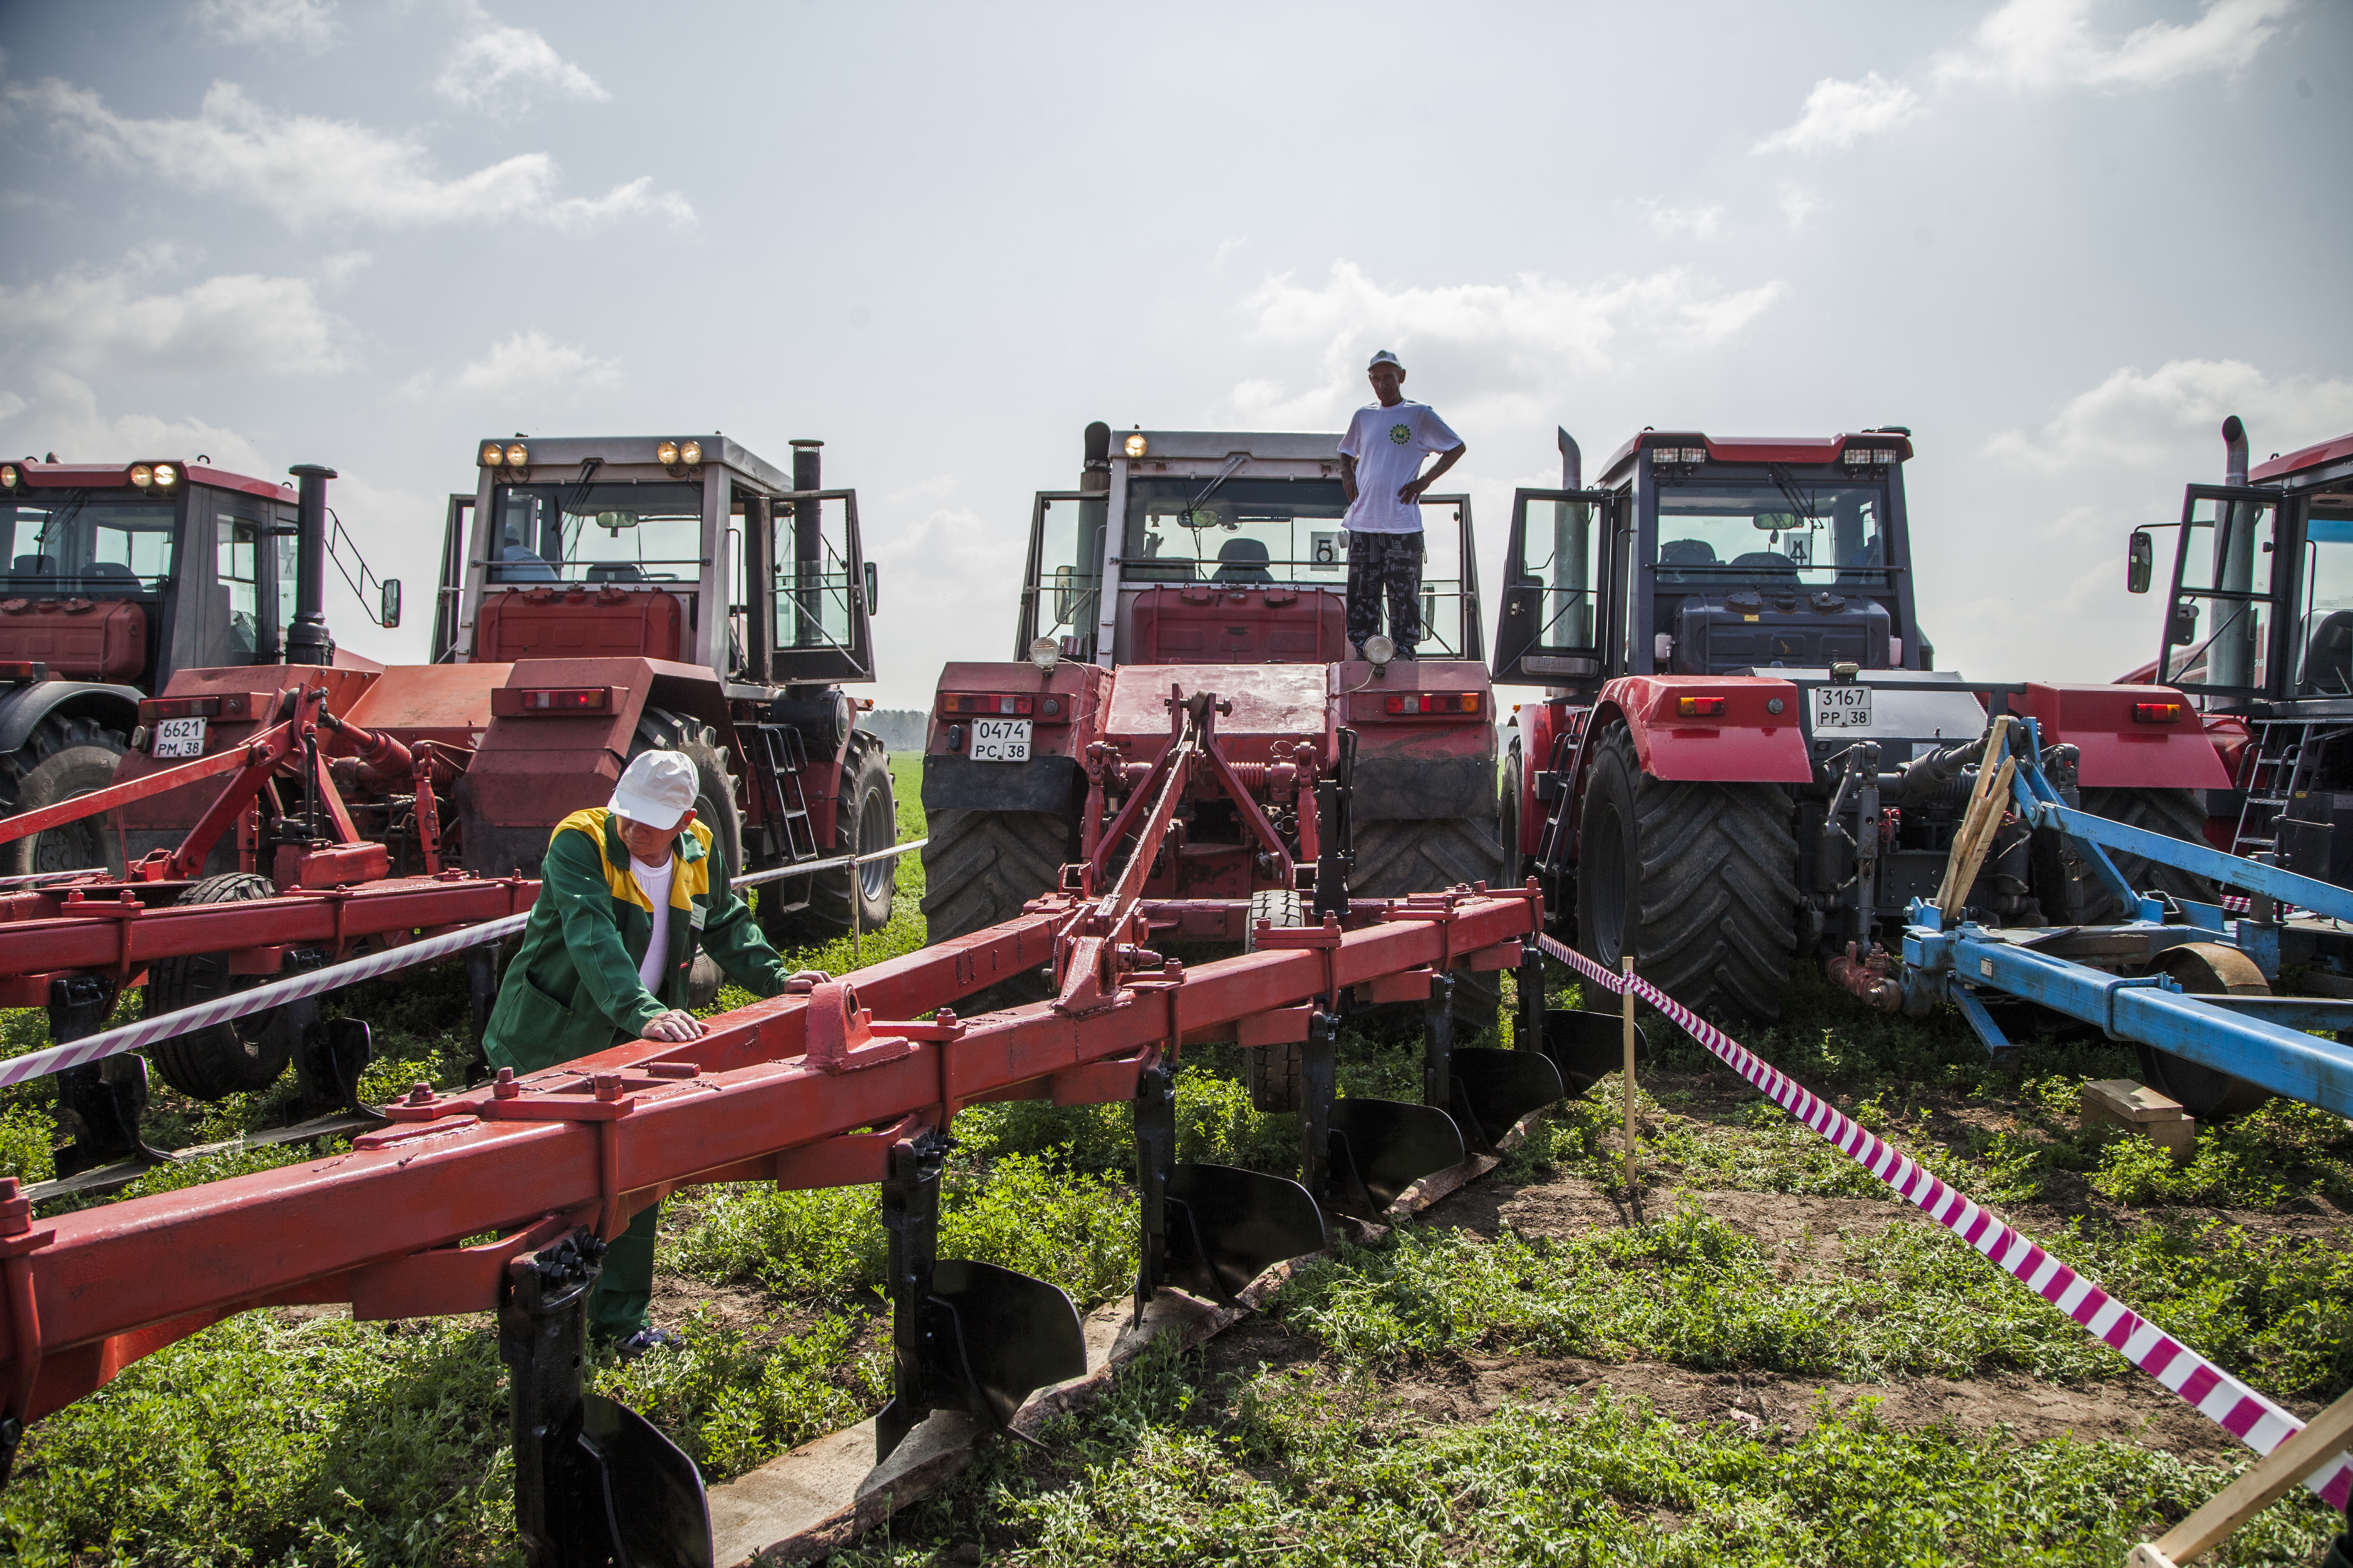
[[[485,433],[824,437],[913,705],[1089,418],[1395,348],[1489,590],[1555,425],[1906,423],[1939,663],[2111,679],[2221,416],[2353,428],[2348,146],[2346,0],[7,0],[0,451],[334,463],[424,607]]]

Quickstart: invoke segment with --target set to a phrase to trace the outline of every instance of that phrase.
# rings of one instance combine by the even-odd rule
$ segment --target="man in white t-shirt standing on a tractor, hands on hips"
[[[1421,491],[1464,456],[1464,440],[1426,402],[1405,402],[1405,367],[1386,348],[1365,367],[1381,402],[1365,404],[1339,442],[1339,487],[1348,496],[1348,646],[1365,656],[1365,639],[1381,630],[1388,599],[1388,639],[1398,658],[1421,642]],[[1438,465],[1421,473],[1421,458]]]

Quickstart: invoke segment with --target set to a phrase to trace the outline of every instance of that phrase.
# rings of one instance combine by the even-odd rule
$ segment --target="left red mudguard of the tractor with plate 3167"
[[[1720,710],[1685,712],[1685,701]],[[1762,675],[1621,675],[1602,686],[1586,736],[1600,733],[1614,708],[1652,778],[1814,783],[1802,703],[1798,686]]]

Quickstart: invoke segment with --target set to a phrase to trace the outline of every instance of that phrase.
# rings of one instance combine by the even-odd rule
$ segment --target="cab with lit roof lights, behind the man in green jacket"
[[[722,435],[485,440],[449,498],[435,663],[640,656],[729,698],[873,679],[859,498]]]

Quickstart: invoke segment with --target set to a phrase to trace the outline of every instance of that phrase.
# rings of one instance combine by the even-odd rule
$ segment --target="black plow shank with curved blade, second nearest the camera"
[[[939,1171],[951,1147],[936,1128],[901,1140],[882,1180],[892,1399],[875,1415],[878,1465],[932,1410],[965,1410],[993,1432],[1021,1436],[1012,1418],[1031,1392],[1087,1373],[1078,1307],[1061,1288],[939,1255]]]

